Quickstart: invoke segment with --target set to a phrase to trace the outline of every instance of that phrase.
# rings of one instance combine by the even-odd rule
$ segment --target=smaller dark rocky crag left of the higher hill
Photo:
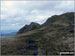
[[[35,29],[38,29],[39,27],[40,27],[40,24],[32,22],[30,25],[25,25],[23,28],[21,28],[17,34],[35,30]]]

